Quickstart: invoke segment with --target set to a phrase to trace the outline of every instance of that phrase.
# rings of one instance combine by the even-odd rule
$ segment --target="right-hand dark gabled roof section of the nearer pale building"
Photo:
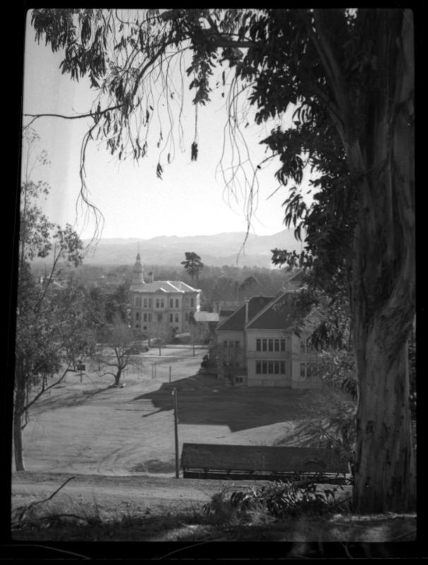
[[[299,311],[295,304],[290,302],[290,295],[283,292],[263,310],[259,311],[254,319],[250,319],[246,324],[246,329],[254,330],[287,330],[299,316]]]

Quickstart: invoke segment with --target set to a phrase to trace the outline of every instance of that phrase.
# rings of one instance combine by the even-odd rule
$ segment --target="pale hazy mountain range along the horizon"
[[[287,251],[299,251],[301,248],[292,230],[283,230],[273,235],[249,234],[244,253],[239,254],[244,239],[244,232],[188,237],[172,235],[152,239],[100,239],[95,251],[85,257],[85,264],[132,265],[139,251],[143,264],[177,266],[184,261],[186,251],[194,251],[206,265],[271,267],[271,249],[278,247]],[[88,240],[83,243],[88,244]]]

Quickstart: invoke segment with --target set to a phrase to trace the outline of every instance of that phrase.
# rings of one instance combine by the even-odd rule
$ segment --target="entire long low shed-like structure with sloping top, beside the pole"
[[[331,449],[183,444],[185,479],[296,480],[344,484],[347,463]]]

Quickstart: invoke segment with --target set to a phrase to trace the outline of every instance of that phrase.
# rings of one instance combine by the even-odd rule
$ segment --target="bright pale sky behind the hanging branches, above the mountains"
[[[29,17],[29,16],[28,16]],[[61,53],[54,54],[44,42],[35,42],[35,32],[27,24],[24,61],[24,114],[64,114],[76,116],[88,112],[95,91],[90,90],[86,78],[79,82],[61,75]],[[86,174],[90,201],[104,216],[103,238],[150,239],[160,235],[199,235],[246,230],[245,191],[235,183],[237,197],[225,189],[222,174],[217,174],[222,158],[223,167],[231,165],[232,153],[224,146],[227,111],[225,98],[219,91],[213,93],[213,102],[198,108],[198,160],[191,161],[191,143],[194,136],[194,107],[191,92],[185,93],[183,150],[174,138],[177,154],[172,164],[164,167],[162,180],[156,177],[159,158],[156,142],[149,144],[148,156],[139,160],[119,162],[110,155],[105,143],[92,142],[88,146]],[[258,165],[265,157],[261,139],[275,124],[257,126],[249,114],[249,126],[242,131],[249,148],[249,157]],[[23,125],[30,121],[24,117]],[[153,122],[153,131],[160,127]],[[81,141],[88,129],[88,119],[61,119],[42,117],[32,123],[40,136],[35,148],[46,150],[49,165],[37,167],[33,180],[49,183],[50,193],[41,203],[50,220],[60,225],[71,223],[82,239],[93,237],[95,223],[78,206],[81,188],[79,163]],[[164,124],[165,126],[165,124]],[[164,128],[165,131],[165,128]],[[166,154],[162,162],[166,165]],[[247,163],[248,165],[248,163]],[[278,162],[263,165],[258,174],[259,191],[251,232],[267,235],[284,229],[283,201],[287,189],[278,189],[274,177]],[[226,174],[230,174],[226,170]]]

